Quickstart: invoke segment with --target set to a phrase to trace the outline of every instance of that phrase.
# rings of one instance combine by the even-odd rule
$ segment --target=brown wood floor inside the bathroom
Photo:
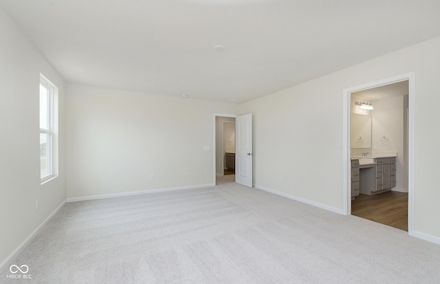
[[[351,215],[408,231],[408,193],[361,194],[351,201]]]

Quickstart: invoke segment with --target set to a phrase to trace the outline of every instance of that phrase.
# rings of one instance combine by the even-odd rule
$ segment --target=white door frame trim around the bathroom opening
[[[384,78],[371,83],[358,85],[343,90],[342,118],[342,210],[351,215],[351,160],[350,160],[350,119],[351,93],[372,89],[383,85],[408,80],[408,234],[414,236],[414,207],[415,207],[415,72]]]

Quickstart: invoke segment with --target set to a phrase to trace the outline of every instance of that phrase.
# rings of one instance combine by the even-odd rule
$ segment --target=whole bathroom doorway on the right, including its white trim
[[[414,96],[414,73],[344,89],[344,210],[411,235]],[[360,111],[362,103],[373,110]]]

